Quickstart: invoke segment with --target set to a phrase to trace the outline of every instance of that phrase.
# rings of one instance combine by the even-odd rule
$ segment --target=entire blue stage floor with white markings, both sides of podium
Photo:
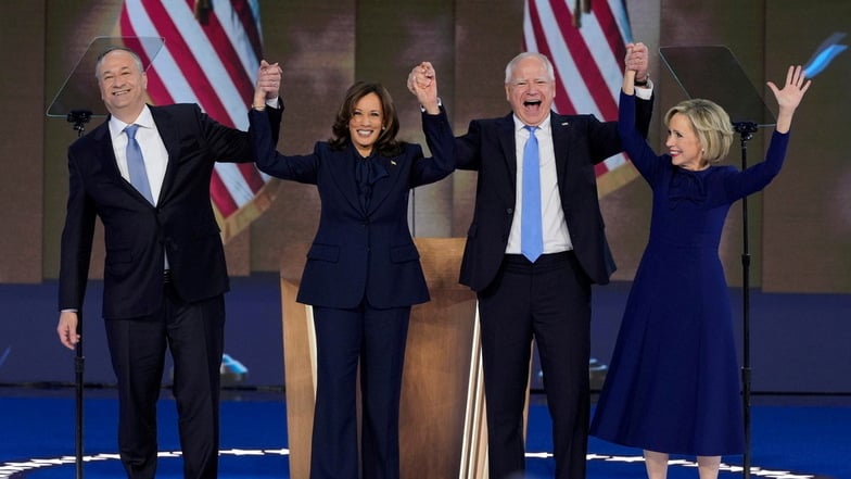
[[[239,394],[239,393],[237,393]],[[287,413],[276,393],[229,394],[221,404],[220,475],[228,478],[288,478]],[[74,477],[74,400],[68,392],[33,396],[0,393],[0,479]],[[117,403],[112,392],[87,392],[85,402],[85,477],[123,477],[115,455]],[[754,406],[752,477],[777,479],[851,478],[851,407]],[[157,477],[180,478],[175,404],[160,403]],[[554,461],[545,406],[530,409],[528,478],[551,478]],[[539,453],[539,454],[538,454]],[[543,457],[542,457],[543,456]],[[590,438],[588,478],[645,477],[640,451]],[[690,457],[669,469],[670,479],[697,478]],[[741,456],[724,457],[741,466]],[[721,478],[741,477],[740,469]]]

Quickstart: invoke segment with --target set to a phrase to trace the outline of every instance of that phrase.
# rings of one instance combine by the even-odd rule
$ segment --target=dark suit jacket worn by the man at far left
[[[164,252],[182,300],[208,299],[229,288],[209,179],[215,162],[254,161],[249,136],[216,123],[194,104],[150,109],[168,151],[156,206],[118,172],[109,118],[68,148],[60,310],[81,310],[96,216],[103,223],[106,248],[104,318],[143,317],[161,306]],[[280,124],[281,110],[266,111]]]

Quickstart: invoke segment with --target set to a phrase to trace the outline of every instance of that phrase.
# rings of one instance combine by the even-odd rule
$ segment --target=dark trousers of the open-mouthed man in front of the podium
[[[523,405],[532,340],[538,349],[552,417],[557,479],[583,479],[590,411],[590,281],[573,252],[533,264],[506,255],[499,275],[479,294],[492,479],[525,470]]]

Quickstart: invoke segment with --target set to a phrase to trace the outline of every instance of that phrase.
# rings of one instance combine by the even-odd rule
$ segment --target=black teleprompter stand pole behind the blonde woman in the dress
[[[748,140],[753,138],[757,131],[757,124],[751,122],[736,122],[734,129],[739,134],[741,142],[741,171],[748,167]],[[741,320],[742,320],[742,358],[741,358],[741,404],[742,419],[745,423],[745,455],[742,458],[742,477],[750,478],[750,442],[751,442],[751,419],[750,419],[750,251],[748,249],[748,197],[741,199],[741,229],[742,229],[742,252],[741,252]]]

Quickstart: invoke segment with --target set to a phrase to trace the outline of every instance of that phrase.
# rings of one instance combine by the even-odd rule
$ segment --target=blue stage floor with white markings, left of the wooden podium
[[[85,401],[86,478],[124,477],[124,469],[116,455],[117,406],[117,401],[112,398]],[[3,438],[0,440],[0,478],[74,477],[73,399],[0,398],[0,411],[3,412],[0,423],[0,437]],[[175,454],[168,454],[179,451],[174,401],[161,401],[157,416],[161,451],[157,478],[181,478],[182,462]],[[251,399],[221,403],[219,477],[288,478],[285,446],[287,413],[283,401]]]

